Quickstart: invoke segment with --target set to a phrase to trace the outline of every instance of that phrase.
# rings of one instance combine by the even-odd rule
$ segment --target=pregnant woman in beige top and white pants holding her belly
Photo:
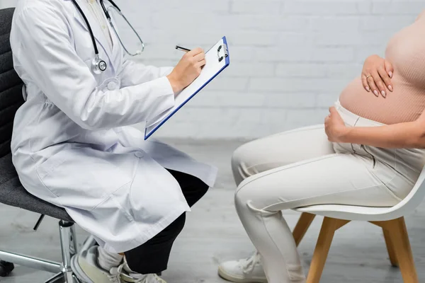
[[[425,165],[424,13],[368,57],[324,125],[251,141],[232,158],[235,204],[258,250],[224,262],[233,282],[301,283],[305,275],[281,210],[314,204],[392,207]]]

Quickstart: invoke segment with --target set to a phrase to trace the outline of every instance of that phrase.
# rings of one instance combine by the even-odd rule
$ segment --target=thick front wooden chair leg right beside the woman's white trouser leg
[[[319,283],[320,277],[324,269],[324,264],[327,260],[329,248],[334,238],[335,231],[346,225],[348,220],[333,219],[324,217],[322,229],[320,230],[317,245],[314,250],[312,264],[308,272],[307,283]]]

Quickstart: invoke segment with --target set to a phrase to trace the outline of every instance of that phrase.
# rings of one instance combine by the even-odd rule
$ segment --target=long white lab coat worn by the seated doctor
[[[108,69],[92,74],[94,47],[72,1],[21,0],[11,30],[26,87],[16,113],[13,163],[31,194],[67,209],[113,253],[131,250],[190,211],[169,168],[212,186],[217,170],[130,127],[174,106],[171,68],[125,59],[80,1]],[[86,1],[86,0],[84,0]]]

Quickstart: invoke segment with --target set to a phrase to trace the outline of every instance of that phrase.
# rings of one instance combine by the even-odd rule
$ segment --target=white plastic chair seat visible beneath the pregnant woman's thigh
[[[388,212],[393,207],[356,207],[351,205],[324,204],[293,209],[296,212],[307,212],[320,216],[351,221],[387,221]]]

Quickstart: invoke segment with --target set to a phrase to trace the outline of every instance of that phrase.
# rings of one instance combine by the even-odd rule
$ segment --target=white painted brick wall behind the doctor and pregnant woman
[[[229,69],[157,134],[194,138],[254,138],[322,122],[365,57],[383,55],[425,8],[421,0],[116,1],[147,42],[147,64],[175,64],[174,45],[209,48],[227,35]]]

